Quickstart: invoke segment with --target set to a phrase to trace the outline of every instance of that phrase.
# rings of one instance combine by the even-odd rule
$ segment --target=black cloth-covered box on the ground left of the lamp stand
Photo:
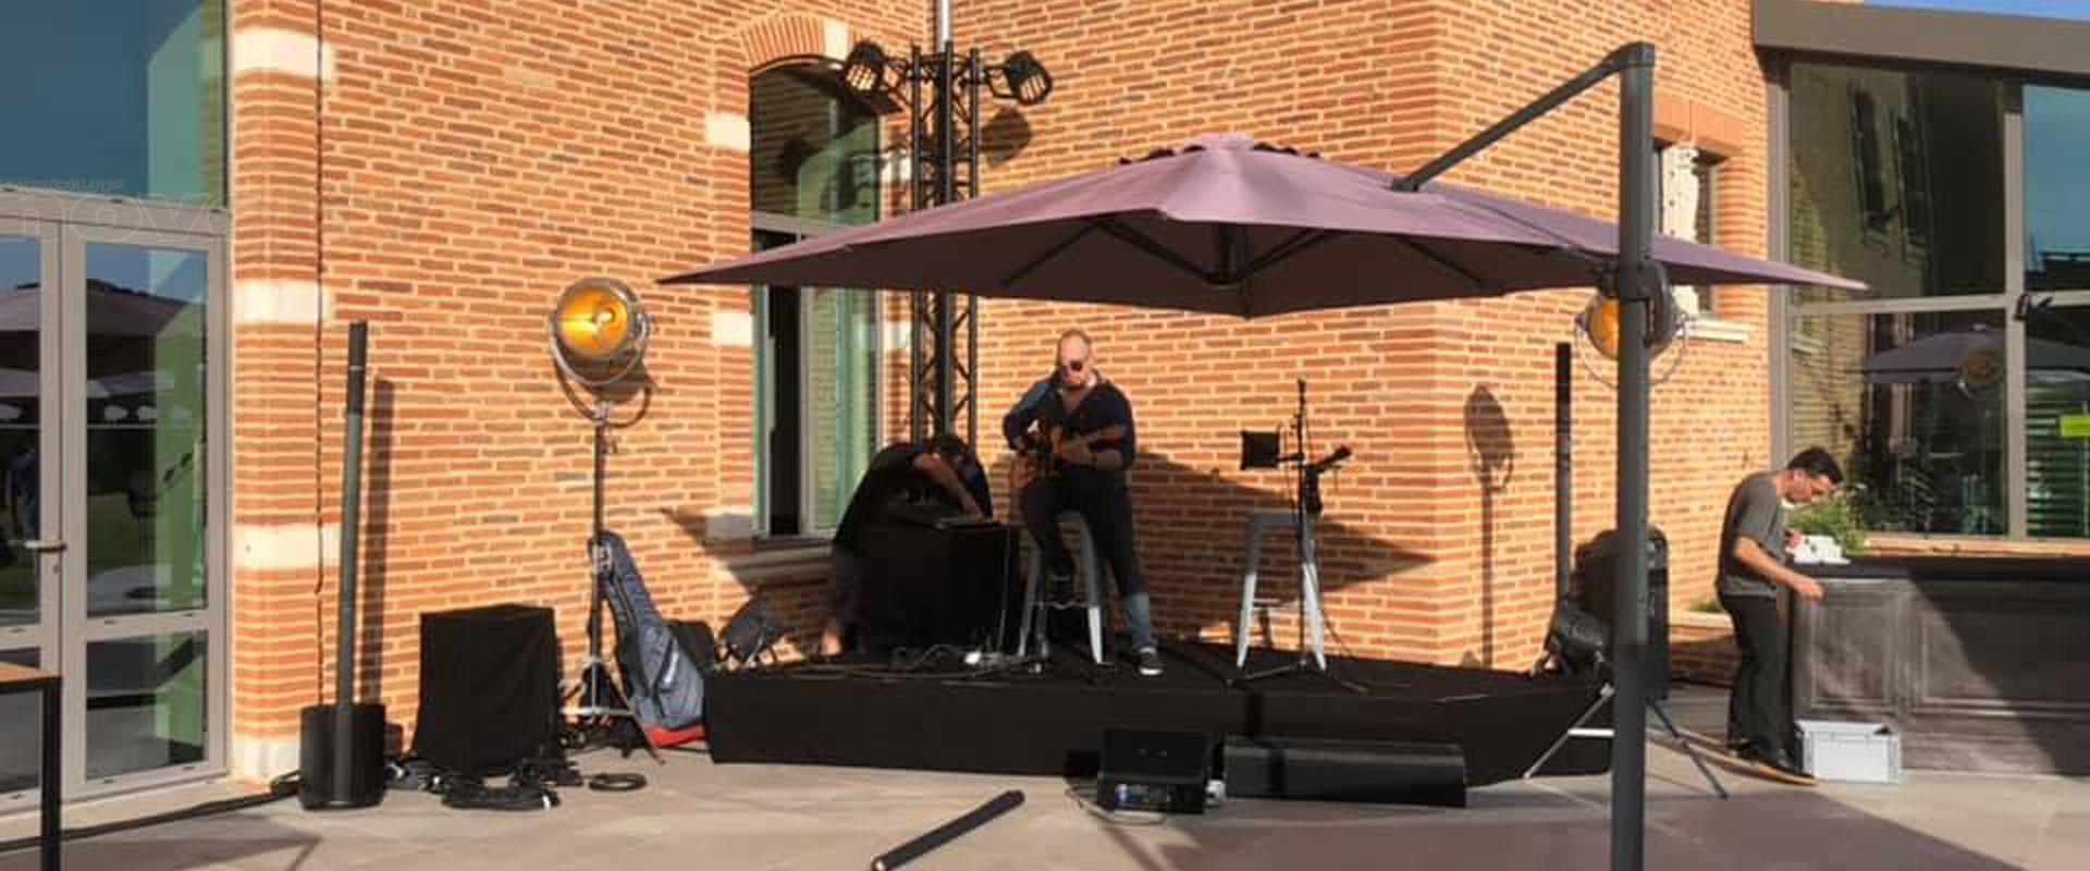
[[[420,616],[418,756],[460,775],[495,775],[556,750],[556,739],[558,633],[550,608]]]

